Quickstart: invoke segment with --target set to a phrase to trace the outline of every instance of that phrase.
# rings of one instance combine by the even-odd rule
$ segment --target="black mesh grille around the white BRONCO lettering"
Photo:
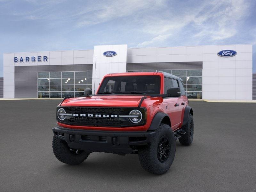
[[[128,115],[134,108],[117,108],[117,107],[61,107],[64,108],[66,113],[79,114],[79,116],[67,116],[63,121],[57,120],[61,123],[70,125],[81,125],[81,126],[111,126],[111,127],[122,127],[122,126],[138,126],[144,124],[143,120],[139,124],[132,124],[128,118],[111,117],[111,115]],[[137,108],[144,115],[144,108]],[[57,108],[58,110],[58,108]],[[80,116],[80,114],[86,114],[86,116]],[[91,114],[92,117],[87,115]],[[95,117],[95,115],[101,115],[101,117]],[[110,117],[103,117],[103,115],[109,115]]]

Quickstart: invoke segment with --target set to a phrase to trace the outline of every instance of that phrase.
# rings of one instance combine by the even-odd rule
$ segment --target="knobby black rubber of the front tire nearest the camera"
[[[170,149],[166,160],[164,162],[160,162],[157,156],[157,152],[160,140],[163,137],[168,139]],[[175,151],[176,144],[174,133],[172,132],[171,127],[167,124],[160,124],[158,129],[156,129],[156,134],[153,138],[153,141],[139,149],[140,164],[147,172],[158,175],[164,174],[169,170],[170,166],[172,165]]]

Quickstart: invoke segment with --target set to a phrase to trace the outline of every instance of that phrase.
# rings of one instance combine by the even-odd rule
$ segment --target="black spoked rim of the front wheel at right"
[[[165,162],[168,159],[170,152],[170,143],[166,136],[160,138],[157,147],[157,158],[160,162]]]

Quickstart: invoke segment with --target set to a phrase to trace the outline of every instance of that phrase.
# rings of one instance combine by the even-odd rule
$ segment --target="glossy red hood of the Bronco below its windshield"
[[[138,107],[143,96],[92,96],[70,98],[63,101],[61,106],[83,106],[83,107]]]

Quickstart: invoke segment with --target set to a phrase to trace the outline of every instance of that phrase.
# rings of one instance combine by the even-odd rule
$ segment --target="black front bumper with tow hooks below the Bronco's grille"
[[[105,152],[116,154],[134,153],[136,147],[150,143],[152,132],[117,132],[68,129],[63,127],[52,128],[54,135],[68,143],[70,148],[81,149],[86,152]]]

